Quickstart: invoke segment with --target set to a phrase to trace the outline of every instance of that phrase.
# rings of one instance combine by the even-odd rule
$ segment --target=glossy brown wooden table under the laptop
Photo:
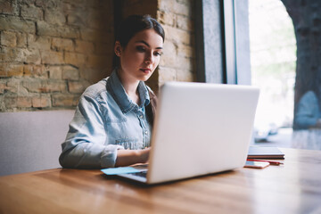
[[[84,169],[0,177],[0,213],[321,213],[321,151],[281,150],[284,166],[165,185]]]

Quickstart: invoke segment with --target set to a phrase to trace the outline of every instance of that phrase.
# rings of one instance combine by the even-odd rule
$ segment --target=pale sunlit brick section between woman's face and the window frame
[[[159,0],[157,19],[166,32],[159,66],[159,85],[165,81],[195,81],[194,1]]]

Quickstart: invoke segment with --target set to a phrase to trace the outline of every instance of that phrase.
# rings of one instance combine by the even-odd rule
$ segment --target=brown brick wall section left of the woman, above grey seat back
[[[0,111],[74,108],[111,72],[112,1],[0,0]]]

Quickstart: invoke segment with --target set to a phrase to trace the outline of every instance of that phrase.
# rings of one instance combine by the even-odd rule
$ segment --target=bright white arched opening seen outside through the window
[[[296,66],[292,20],[279,0],[249,1],[252,85],[260,97],[254,144],[290,147]]]

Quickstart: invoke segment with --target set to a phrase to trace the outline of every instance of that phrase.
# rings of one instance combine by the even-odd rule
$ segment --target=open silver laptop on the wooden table
[[[242,168],[258,99],[254,86],[165,83],[149,163],[117,176],[152,185]]]

